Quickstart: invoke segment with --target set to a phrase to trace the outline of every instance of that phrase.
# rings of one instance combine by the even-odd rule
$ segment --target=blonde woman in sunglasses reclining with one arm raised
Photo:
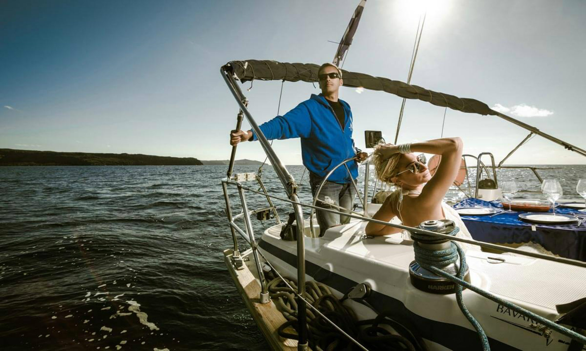
[[[441,161],[431,177],[424,157],[418,153],[441,155]],[[462,140],[459,137],[444,137],[412,144],[380,144],[375,147],[371,162],[379,180],[394,184],[398,188],[387,197],[373,216],[379,221],[389,222],[397,216],[403,225],[417,226],[430,219],[450,219],[460,228],[456,236],[472,239],[464,222],[443,201],[445,193],[454,183],[462,159]],[[369,222],[368,235],[387,235],[402,229]],[[461,243],[462,244],[462,243]],[[479,249],[475,245],[462,245],[465,249]]]

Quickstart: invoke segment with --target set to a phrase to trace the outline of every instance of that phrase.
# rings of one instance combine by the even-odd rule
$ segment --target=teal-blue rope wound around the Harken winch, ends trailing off
[[[458,231],[459,231],[459,228],[456,227],[448,235],[452,235],[452,236],[456,235],[456,233],[458,233]],[[417,239],[423,239],[423,240],[435,239],[432,236],[425,235],[425,234],[418,234],[418,233],[412,233],[411,237],[415,240],[417,240]],[[419,263],[421,265],[421,267],[424,267],[425,269],[437,274],[438,276],[447,278],[447,279],[453,281],[454,283],[456,283],[456,285],[457,285],[456,286],[456,301],[458,301],[458,307],[462,311],[462,314],[464,314],[466,316],[466,318],[468,319],[470,324],[472,324],[474,329],[476,329],[476,332],[478,332],[478,335],[481,339],[483,351],[490,350],[488,338],[486,337],[486,333],[483,331],[482,326],[478,323],[478,321],[476,321],[476,319],[474,318],[474,316],[472,316],[470,311],[468,311],[468,308],[466,308],[466,305],[464,304],[464,300],[462,298],[462,287],[465,287],[469,290],[472,290],[472,291],[476,292],[476,294],[482,295],[483,297],[486,297],[489,300],[495,301],[498,304],[501,304],[507,308],[512,309],[513,311],[518,312],[519,314],[522,314],[526,317],[529,317],[530,319],[533,319],[534,321],[539,322],[540,324],[547,326],[548,328],[553,329],[554,331],[556,331],[562,335],[568,336],[568,338],[574,339],[577,342],[580,342],[580,343],[586,345],[586,337],[581,335],[580,333],[571,331],[570,329],[565,328],[562,325],[559,325],[555,322],[552,322],[547,318],[543,318],[540,315],[534,314],[531,311],[527,311],[527,309],[524,309],[524,308],[519,307],[515,304],[512,304],[509,301],[503,300],[502,298],[497,297],[496,295],[493,295],[488,291],[482,290],[481,288],[475,287],[474,285],[465,281],[464,274],[465,274],[466,269],[468,267],[466,264],[466,254],[464,253],[464,250],[462,250],[462,248],[458,245],[458,243],[451,242],[451,244],[452,245],[450,246],[449,249],[439,250],[439,251],[435,251],[435,252],[432,252],[431,250],[425,249],[424,247],[420,247],[419,245],[414,245],[413,247],[415,249],[415,261],[417,261],[417,263]],[[454,254],[456,257],[455,259],[454,259]],[[445,267],[450,263],[454,263],[458,259],[458,256],[460,257],[460,268],[459,268],[458,274],[456,276],[453,276],[452,274],[449,274],[449,273],[437,268],[437,266]],[[431,259],[430,259],[430,257],[431,257]],[[434,262],[439,262],[440,264],[435,264]],[[446,263],[446,262],[448,262],[448,263]],[[443,264],[443,266],[442,266],[442,264]]]

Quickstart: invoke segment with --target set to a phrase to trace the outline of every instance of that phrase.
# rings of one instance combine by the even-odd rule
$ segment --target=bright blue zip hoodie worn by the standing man
[[[350,106],[338,100],[346,113],[345,126],[342,128],[333,109],[322,94],[311,94],[311,98],[297,105],[283,116],[260,125],[265,137],[272,139],[301,138],[301,155],[307,169],[319,177],[325,177],[333,167],[343,160],[355,156],[356,150],[352,139],[352,111]],[[253,138],[258,140],[253,131]],[[346,163],[352,179],[358,177],[355,161]],[[329,181],[348,183],[350,177],[346,167],[340,166],[334,171]]]

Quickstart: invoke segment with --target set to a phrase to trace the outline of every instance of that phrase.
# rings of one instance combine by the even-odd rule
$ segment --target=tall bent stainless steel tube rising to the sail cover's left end
[[[275,170],[275,173],[277,173],[277,176],[279,177],[281,184],[285,188],[285,191],[287,192],[287,196],[291,199],[297,199],[297,184],[295,183],[295,179],[291,176],[289,171],[287,171],[287,168],[285,168],[285,165],[277,157],[277,154],[275,154],[274,150],[272,150],[272,147],[268,143],[268,140],[264,136],[263,132],[260,130],[260,128],[258,128],[256,121],[254,121],[253,116],[250,114],[250,111],[248,111],[246,105],[244,104],[246,97],[244,97],[244,94],[240,90],[240,87],[236,84],[236,81],[234,80],[233,75],[230,74],[230,72],[227,69],[228,68],[226,66],[220,68],[220,74],[222,74],[222,78],[224,78],[226,85],[228,85],[228,88],[232,92],[232,95],[234,95],[234,99],[236,99],[236,102],[240,105],[240,109],[244,113],[244,116],[246,116],[246,119],[247,119],[248,123],[250,123],[251,128],[254,130],[254,132],[258,138],[258,141],[261,144],[261,147],[263,147],[263,150],[264,150],[265,154],[267,154],[267,158],[270,160],[272,167]],[[298,201],[295,201],[295,202],[298,202]],[[301,206],[294,205],[293,208],[295,211],[295,217],[298,221],[297,223],[303,223],[303,212],[302,212]],[[246,211],[244,211],[244,212],[247,213]],[[250,218],[248,218],[248,220],[250,221]],[[297,252],[298,252],[298,256],[297,256],[297,260],[298,260],[298,267],[297,267],[298,285],[297,285],[297,288],[298,288],[298,294],[301,297],[305,297],[305,235],[303,233],[303,230],[304,230],[304,228],[302,225],[297,226]],[[257,256],[255,256],[254,259],[256,260]],[[306,321],[306,318],[305,318],[306,306],[305,306],[304,299],[300,299],[298,301],[297,313],[298,313],[298,320],[303,321],[303,322],[299,322],[299,328],[298,328],[299,329],[299,331],[298,331],[299,340],[298,340],[298,344],[297,344],[297,349],[298,350],[307,350],[308,349],[308,332],[307,332],[307,324],[305,322]]]

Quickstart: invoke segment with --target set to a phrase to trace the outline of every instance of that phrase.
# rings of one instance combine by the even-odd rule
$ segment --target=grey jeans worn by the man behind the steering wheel
[[[321,184],[323,178],[316,176],[313,173],[309,173],[309,184],[311,184],[311,194],[314,195],[318,191],[319,184]],[[356,181],[353,180],[356,184]],[[356,197],[356,188],[352,183],[333,183],[332,181],[326,181],[323,184],[322,190],[319,192],[318,201],[316,205],[321,208],[334,209],[340,212],[343,211],[335,206],[339,206],[345,209],[352,209],[354,198]],[[321,201],[320,201],[321,200]],[[335,205],[335,206],[332,206]],[[349,212],[348,212],[349,213]],[[338,214],[332,214],[331,212],[316,211],[316,217],[318,218],[319,225],[319,236],[323,236],[326,229],[336,225],[346,224],[350,222],[350,217],[340,216]]]

